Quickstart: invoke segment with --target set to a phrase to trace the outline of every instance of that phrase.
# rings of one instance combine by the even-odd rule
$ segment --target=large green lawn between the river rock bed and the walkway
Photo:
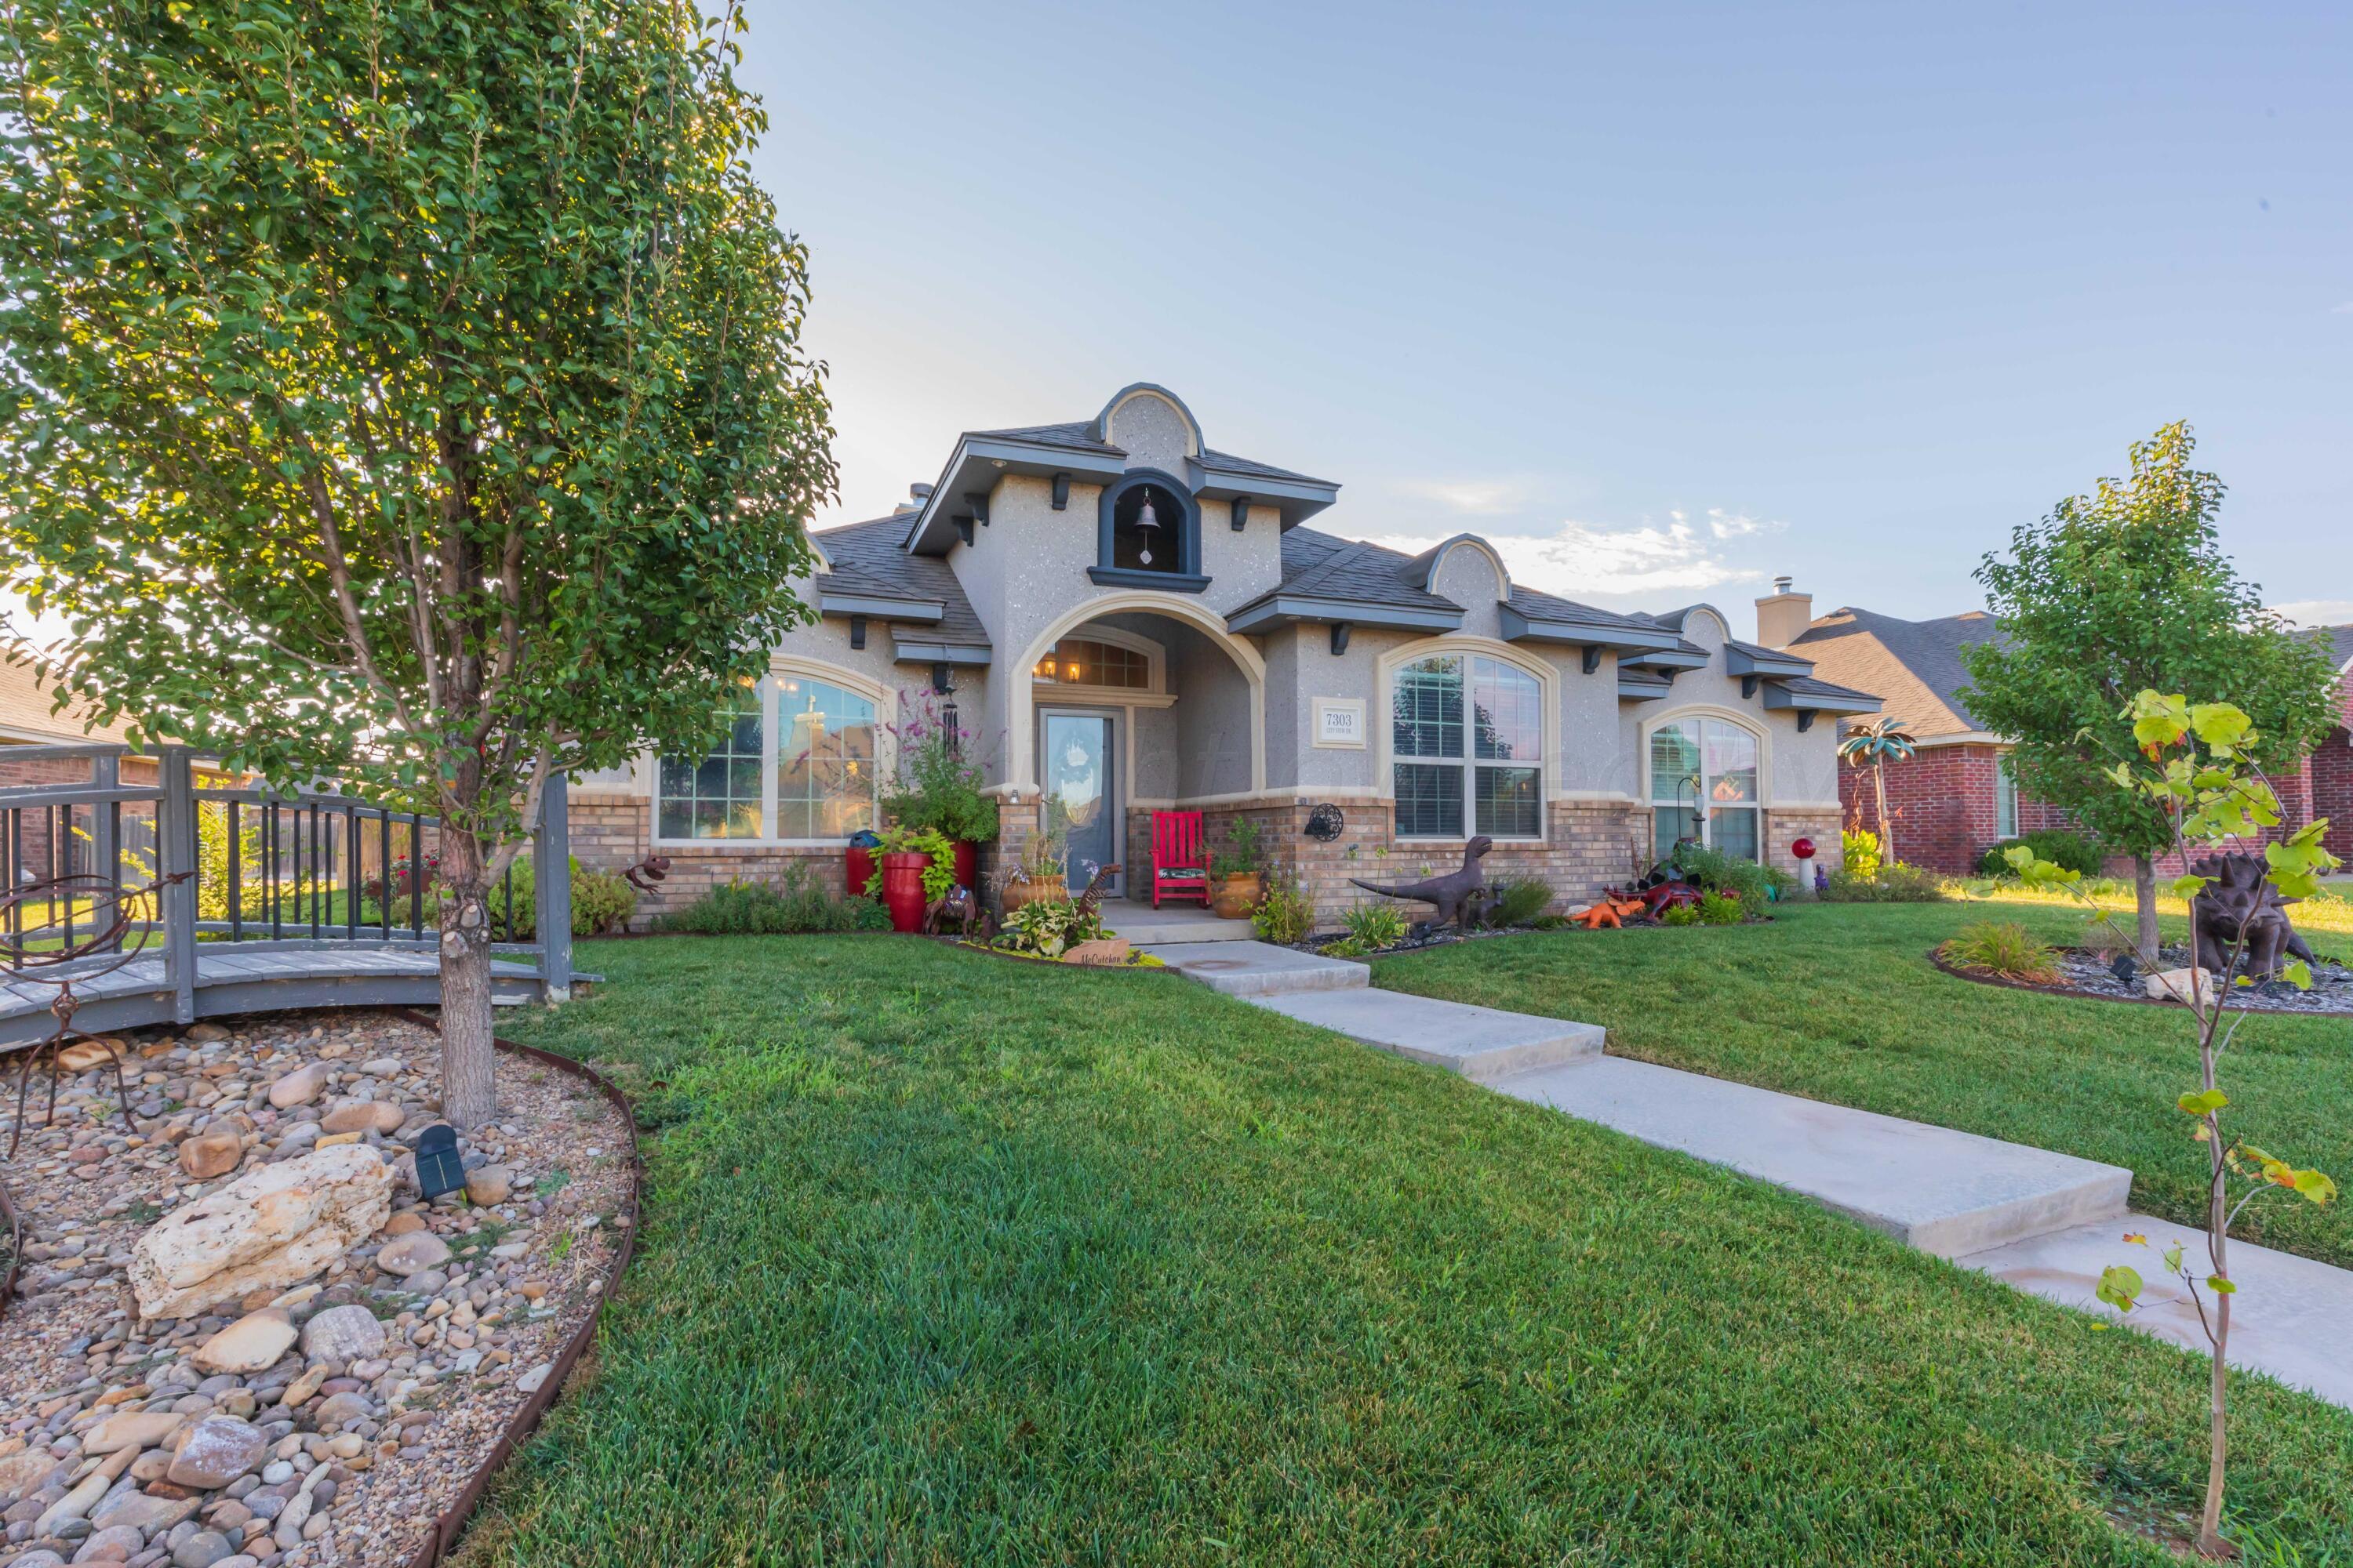
[[[1711,933],[1713,936],[1713,933]],[[2146,1563],[2202,1363],[1174,976],[588,943],[640,1253],[471,1563]],[[2353,1415],[2238,1380],[2254,1540]]]

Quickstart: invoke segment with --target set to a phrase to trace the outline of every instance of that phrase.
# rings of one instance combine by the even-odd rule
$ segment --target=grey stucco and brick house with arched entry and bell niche
[[[1073,886],[1125,865],[1141,896],[1155,809],[1202,811],[1214,844],[1254,818],[1325,917],[1362,898],[1348,877],[1452,867],[1473,835],[1492,877],[1572,905],[1687,835],[1835,858],[1835,719],[1875,696],[1706,604],[1518,585],[1475,534],[1407,557],[1308,527],[1337,501],[1209,447],[1148,383],[1094,418],[969,430],[896,512],[812,536],[821,618],[774,649],[727,748],[574,780],[574,844],[668,856],[647,914],[793,860],[838,877],[904,693],[932,689],[1000,797],[991,858],[1054,799]],[[1337,837],[1308,832],[1318,806]]]

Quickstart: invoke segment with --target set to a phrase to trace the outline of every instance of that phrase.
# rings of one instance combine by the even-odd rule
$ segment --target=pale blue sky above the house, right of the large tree
[[[1934,616],[2188,418],[2353,621],[2353,7],[753,0],[842,503],[1127,381],[1600,604]]]

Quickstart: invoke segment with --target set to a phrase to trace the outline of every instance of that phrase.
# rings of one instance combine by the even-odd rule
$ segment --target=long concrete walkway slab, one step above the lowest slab
[[[2122,1166],[1614,1056],[1494,1088],[1802,1192],[1939,1258],[2115,1220],[2132,1192]]]

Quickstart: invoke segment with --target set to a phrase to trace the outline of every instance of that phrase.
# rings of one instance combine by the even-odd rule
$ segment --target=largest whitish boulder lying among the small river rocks
[[[311,1279],[393,1213],[393,1168],[365,1143],[261,1166],[174,1208],[132,1246],[139,1316],[198,1316]]]

